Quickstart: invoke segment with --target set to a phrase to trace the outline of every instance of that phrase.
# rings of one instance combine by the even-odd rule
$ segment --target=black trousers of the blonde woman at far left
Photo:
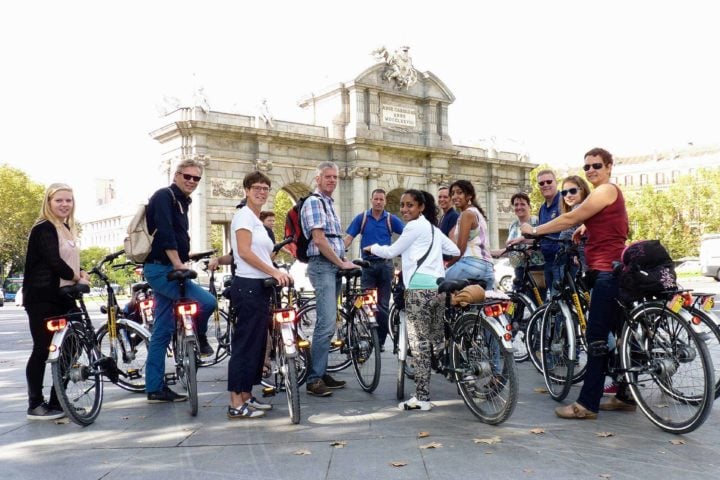
[[[45,401],[43,396],[43,379],[45,377],[45,364],[50,354],[50,342],[52,342],[53,332],[45,327],[45,319],[67,313],[71,308],[75,307],[75,303],[68,299],[67,301],[58,300],[57,303],[35,303],[26,305],[30,321],[30,334],[33,339],[33,349],[28,358],[25,367],[25,377],[28,384],[28,406],[35,408]],[[57,395],[55,388],[50,390],[50,405],[58,407]]]

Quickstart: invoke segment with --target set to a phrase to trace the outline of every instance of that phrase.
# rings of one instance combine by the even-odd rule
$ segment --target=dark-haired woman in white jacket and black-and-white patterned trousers
[[[410,349],[415,358],[415,395],[401,402],[401,410],[430,410],[431,346],[443,338],[444,304],[437,279],[445,276],[443,254],[457,256],[457,246],[437,225],[435,199],[428,192],[406,190],[400,198],[403,233],[392,245],[371,245],[365,250],[381,258],[402,256],[405,312]]]

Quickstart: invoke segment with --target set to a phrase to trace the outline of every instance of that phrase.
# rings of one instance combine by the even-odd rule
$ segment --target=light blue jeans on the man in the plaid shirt
[[[312,368],[307,384],[322,378],[327,370],[327,358],[330,353],[330,339],[335,333],[337,319],[337,299],[342,281],[336,276],[338,267],[322,255],[310,257],[308,278],[315,289],[315,308],[317,318],[310,348]]]

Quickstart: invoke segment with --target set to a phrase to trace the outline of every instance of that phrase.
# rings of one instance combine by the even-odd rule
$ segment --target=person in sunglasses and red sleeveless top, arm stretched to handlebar
[[[605,382],[608,357],[608,334],[616,331],[622,321],[618,295],[618,280],[613,276],[612,263],[619,261],[628,236],[628,217],[625,199],[620,188],[610,183],[613,158],[602,148],[593,148],[585,154],[585,177],[595,187],[578,208],[563,213],[554,220],[533,227],[523,224],[523,234],[546,235],[560,232],[573,225],[583,224],[573,237],[588,237],[585,258],[588,268],[597,275],[590,297],[590,319],[587,330],[588,344],[595,355],[588,356],[585,381],[580,396],[571,405],[558,407],[555,414],[568,419],[595,419],[598,410],[632,411],[626,384],[621,384],[616,397],[600,404]]]

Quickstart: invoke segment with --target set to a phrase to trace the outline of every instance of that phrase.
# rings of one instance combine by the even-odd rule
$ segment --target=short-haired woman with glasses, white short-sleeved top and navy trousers
[[[273,242],[260,221],[260,212],[270,194],[270,179],[261,172],[252,172],[243,179],[247,205],[233,217],[230,243],[235,262],[231,287],[237,319],[232,338],[232,354],[228,363],[228,418],[257,418],[272,409],[252,394],[252,387],[262,378],[268,325],[271,320],[272,288],[263,287],[267,278],[280,285],[292,283],[290,276],[272,264]]]

